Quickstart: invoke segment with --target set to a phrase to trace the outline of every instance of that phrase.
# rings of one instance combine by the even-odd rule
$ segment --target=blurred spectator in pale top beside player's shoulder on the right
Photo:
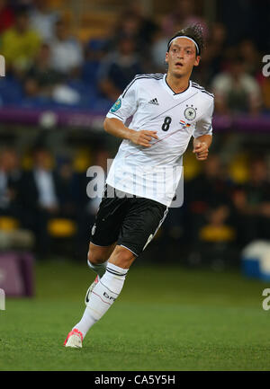
[[[216,113],[257,114],[260,111],[260,88],[256,79],[245,72],[242,57],[234,58],[227,72],[214,77],[211,89],[215,95]]]

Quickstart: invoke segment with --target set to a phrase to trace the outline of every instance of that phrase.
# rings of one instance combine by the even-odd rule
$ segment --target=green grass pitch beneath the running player
[[[0,311],[0,370],[269,370],[266,283],[236,272],[135,264],[121,296],[65,349],[94,273],[69,261],[38,263],[36,296]],[[269,287],[269,285],[268,285]]]

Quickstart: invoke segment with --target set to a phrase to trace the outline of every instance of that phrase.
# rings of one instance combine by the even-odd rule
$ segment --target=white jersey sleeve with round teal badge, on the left
[[[136,83],[136,78],[134,78],[114,102],[106,117],[120,119],[123,122],[130,118],[137,110],[137,89],[138,82]]]

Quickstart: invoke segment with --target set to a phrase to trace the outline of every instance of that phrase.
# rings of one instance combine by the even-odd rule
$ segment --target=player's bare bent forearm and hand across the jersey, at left
[[[158,139],[157,131],[148,131],[146,129],[135,131],[126,127],[120,119],[106,118],[104,120],[104,130],[113,137],[128,139],[138,146],[150,147],[151,138]]]

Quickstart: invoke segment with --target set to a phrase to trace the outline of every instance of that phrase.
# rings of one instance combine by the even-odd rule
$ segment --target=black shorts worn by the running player
[[[138,256],[157,233],[168,208],[152,199],[135,196],[108,198],[107,189],[105,186],[94,220],[91,243],[110,246],[117,242]]]

